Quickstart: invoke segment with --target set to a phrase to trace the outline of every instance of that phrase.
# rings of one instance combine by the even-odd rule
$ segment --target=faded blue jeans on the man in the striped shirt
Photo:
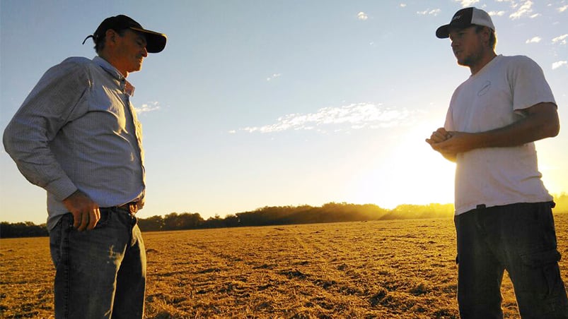
[[[95,229],[77,231],[66,214],[50,231],[56,268],[55,318],[142,318],[146,250],[137,219],[100,208]]]

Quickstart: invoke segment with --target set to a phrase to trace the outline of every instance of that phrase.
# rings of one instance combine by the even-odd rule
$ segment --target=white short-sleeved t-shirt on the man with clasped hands
[[[478,133],[523,118],[523,109],[555,103],[543,70],[526,56],[496,56],[453,92],[447,131]],[[534,143],[459,153],[456,215],[477,207],[552,200],[538,171]]]

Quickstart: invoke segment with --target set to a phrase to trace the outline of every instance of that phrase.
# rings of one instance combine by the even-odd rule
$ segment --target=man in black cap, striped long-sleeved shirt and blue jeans
[[[56,318],[142,318],[146,253],[134,214],[144,205],[144,152],[126,78],[166,36],[121,15],[88,37],[98,56],[50,68],[6,127],[4,147],[47,191]]]

